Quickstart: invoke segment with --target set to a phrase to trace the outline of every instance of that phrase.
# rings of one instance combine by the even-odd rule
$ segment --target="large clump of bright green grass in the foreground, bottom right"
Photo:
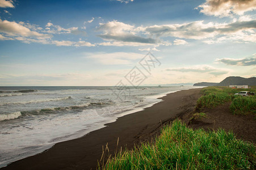
[[[192,130],[175,120],[154,143],[108,159],[99,169],[254,169],[255,146],[224,130]]]

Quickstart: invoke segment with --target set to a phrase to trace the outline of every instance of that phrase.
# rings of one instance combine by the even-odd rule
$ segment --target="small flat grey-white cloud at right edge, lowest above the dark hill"
[[[254,66],[256,65],[256,54],[253,54],[251,57],[247,58],[240,58],[240,59],[235,59],[235,58],[217,58],[217,62],[223,62],[226,65],[233,65],[233,66]]]

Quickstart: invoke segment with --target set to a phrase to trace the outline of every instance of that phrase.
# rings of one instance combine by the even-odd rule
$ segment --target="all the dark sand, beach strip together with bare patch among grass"
[[[168,94],[161,98],[163,101],[144,111],[120,117],[116,122],[107,124],[106,128],[95,130],[79,139],[57,143],[41,154],[11,163],[3,169],[95,169],[97,160],[102,156],[102,146],[106,146],[106,143],[111,155],[114,155],[116,148],[119,150],[120,146],[132,149],[135,144],[152,141],[160,134],[163,125],[169,124],[177,117],[193,129],[233,130],[237,138],[253,142],[255,145],[254,116],[233,115],[229,111],[230,103],[213,109],[202,109],[200,112],[205,112],[208,118],[191,121],[196,100],[200,96],[200,89]]]

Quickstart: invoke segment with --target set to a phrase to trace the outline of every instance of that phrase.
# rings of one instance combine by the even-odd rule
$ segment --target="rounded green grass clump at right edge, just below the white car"
[[[235,96],[230,110],[234,114],[254,114],[256,116],[256,96]]]

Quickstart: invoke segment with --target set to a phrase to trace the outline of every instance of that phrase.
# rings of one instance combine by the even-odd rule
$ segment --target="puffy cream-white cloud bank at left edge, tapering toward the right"
[[[18,40],[27,44],[36,42],[57,46],[95,46],[90,42],[81,41],[81,39],[79,41],[52,40],[52,33],[73,33],[74,35],[85,36],[86,32],[77,29],[77,27],[65,29],[58,25],[53,25],[52,23],[47,23],[47,26],[47,28],[54,27],[54,30],[43,29],[30,23],[16,23],[0,19],[0,33],[2,33],[0,34],[0,40]]]

